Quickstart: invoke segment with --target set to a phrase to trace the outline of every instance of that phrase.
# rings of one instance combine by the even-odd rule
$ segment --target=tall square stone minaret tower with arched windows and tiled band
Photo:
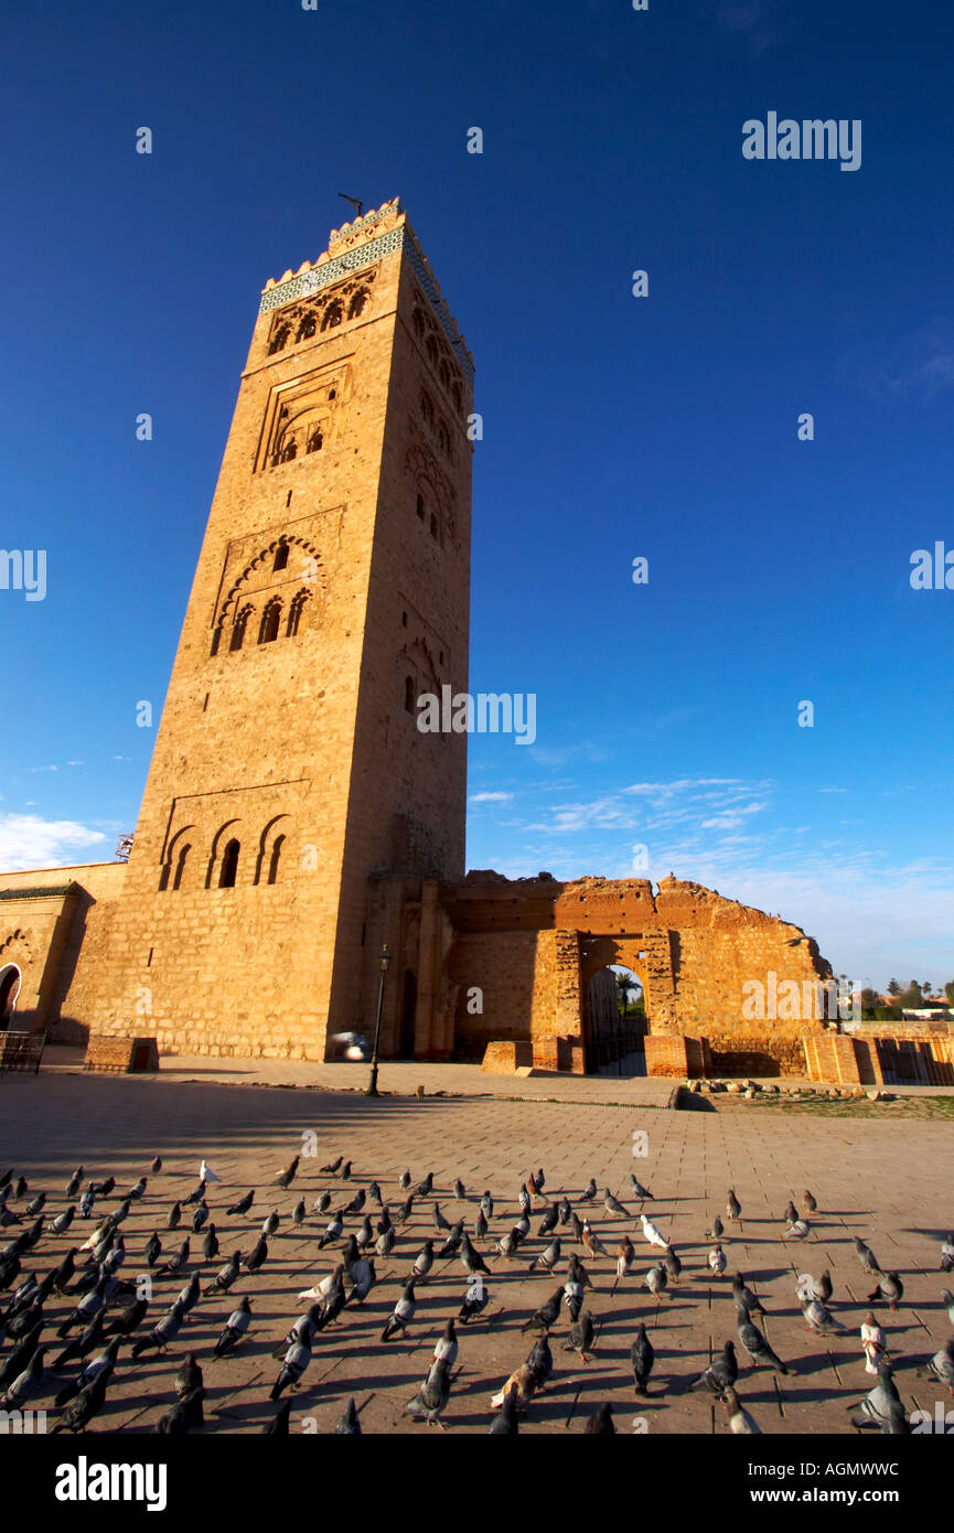
[[[69,1012],[322,1059],[380,875],[463,877],[472,360],[399,201],[264,290],[123,900]]]

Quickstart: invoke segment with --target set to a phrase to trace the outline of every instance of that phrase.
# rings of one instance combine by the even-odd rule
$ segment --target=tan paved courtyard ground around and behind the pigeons
[[[397,1187],[405,1167],[414,1183],[426,1171],[434,1173],[434,1197],[416,1202],[394,1251],[387,1262],[377,1262],[379,1282],[367,1303],[348,1306],[316,1338],[313,1361],[293,1393],[291,1430],[330,1432],[354,1397],[367,1433],[400,1430],[437,1436],[426,1423],[411,1421],[402,1412],[428,1371],[445,1321],[457,1315],[463,1300],[468,1275],[460,1260],[436,1265],[419,1286],[417,1314],[406,1338],[385,1344],[380,1331],[414,1256],[425,1239],[436,1236],[434,1200],[449,1222],[466,1217],[472,1233],[477,1200],[489,1188],[495,1199],[491,1234],[500,1237],[517,1217],[520,1183],[537,1167],[546,1171],[548,1200],[566,1193],[581,1217],[589,1213],[609,1254],[594,1260],[580,1252],[595,1285],[587,1297],[597,1325],[595,1355],[583,1364],[563,1351],[567,1331],[563,1311],[551,1334],[554,1377],[532,1401],[521,1432],[581,1432],[586,1416],[604,1400],[612,1401],[621,1432],[632,1430],[635,1416],[643,1418],[649,1433],[725,1432],[718,1401],[689,1393],[687,1383],[735,1337],[729,1277],[712,1279],[706,1266],[712,1245],[706,1231],[715,1214],[725,1219],[730,1187],[742,1205],[742,1219],[738,1228],[727,1223],[722,1243],[729,1272],[741,1269],[761,1295],[768,1318],[759,1323],[790,1367],[782,1377],[756,1372],[744,1361],[739,1398],[762,1433],[853,1432],[847,1406],[873,1384],[864,1367],[859,1325],[868,1308],[865,1294],[874,1288],[874,1279],[862,1272],[854,1254],[856,1234],[868,1240],[885,1271],[897,1269],[905,1282],[899,1314],[879,1311],[905,1406],[933,1410],[942,1395],[940,1386],[916,1377],[916,1369],[949,1334],[940,1291],[951,1280],[939,1271],[939,1243],[954,1223],[949,1193],[954,1131],[945,1122],[896,1125],[776,1111],[672,1111],[666,1107],[669,1082],[644,1079],[621,1085],[558,1081],[558,1093],[552,1079],[518,1084],[506,1079],[506,1095],[457,1099],[391,1095],[368,1101],[356,1091],[302,1090],[291,1084],[284,1090],[261,1084],[236,1088],[224,1082],[261,1079],[259,1065],[206,1061],[204,1067],[207,1078],[195,1061],[172,1059],[163,1062],[158,1076],[84,1076],[69,1069],[44,1069],[37,1078],[0,1078],[0,1171],[14,1165],[26,1174],[31,1194],[46,1190],[48,1216],[64,1206],[63,1190],[80,1160],[86,1177],[112,1174],[121,1193],[149,1170],[155,1154],[163,1156],[163,1171],[150,1177],[146,1197],[133,1203],[123,1225],[129,1251],[124,1277],[144,1271],[143,1249],[152,1229],[161,1234],[164,1254],[172,1254],[189,1231],[189,1211],[175,1234],[164,1229],[166,1214],[175,1199],[186,1197],[196,1185],[202,1156],[222,1177],[222,1185],[212,1187],[209,1194],[222,1254],[202,1265],[206,1280],[236,1246],[252,1248],[271,1206],[282,1216],[262,1271],[242,1272],[229,1295],[202,1297],[166,1355],[150,1354],[132,1363],[127,1348],[120,1354],[107,1406],[94,1430],[155,1430],[158,1418],[175,1403],[178,1367],[193,1351],[204,1369],[206,1430],[261,1432],[275,1410],[268,1390],[279,1363],[271,1354],[307,1308],[298,1292],[330,1272],[340,1251],[340,1245],[317,1248],[327,1223],[327,1216],[311,1213],[317,1193],[331,1188],[331,1206],[337,1208],[376,1177],[396,1213],[405,1196]],[[451,1090],[454,1069],[440,1073],[442,1067],[433,1065],[385,1067],[382,1085],[410,1093],[411,1081],[420,1078],[428,1093]],[[359,1084],[356,1076],[340,1079]],[[471,1081],[480,1081],[479,1073]],[[571,1088],[574,1096],[564,1101],[534,1099]],[[610,1105],[620,1101],[621,1090],[632,1105]],[[508,1099],[515,1093],[523,1095]],[[270,1188],[268,1182],[301,1150],[308,1131],[317,1137],[317,1156],[302,1159],[290,1191]],[[646,1157],[633,1157],[635,1131],[647,1136]],[[354,1164],[348,1183],[319,1174],[319,1167],[339,1154]],[[640,1205],[629,1188],[633,1170],[655,1194],[646,1211],[683,1260],[678,1285],[660,1298],[641,1286],[655,1257],[640,1234]],[[580,1194],[590,1176],[600,1196],[587,1208]],[[454,1199],[456,1177],[465,1183],[466,1203]],[[256,1188],[252,1213],[227,1219],[227,1205],[250,1187]],[[604,1187],[629,1210],[626,1220],[604,1211]],[[819,1202],[811,1236],[802,1243],[782,1240],[782,1210],[790,1196],[799,1202],[804,1188]],[[308,1220],[296,1229],[290,1216],[302,1194]],[[23,1202],[12,1206],[20,1211]],[[113,1196],[106,1208],[117,1206]],[[520,1248],[518,1260],[495,1257],[491,1240],[482,1246],[491,1268],[491,1303],[471,1326],[459,1328],[460,1355],[443,1416],[451,1432],[488,1430],[491,1395],[526,1358],[534,1340],[521,1332],[521,1323],[557,1288],[555,1277],[528,1272],[546,1243],[537,1239],[544,1206],[544,1202],[534,1205],[532,1236]],[[97,1208],[101,1211],[103,1205]],[[71,1246],[75,1231],[81,1243],[92,1223],[78,1222],[66,1236],[44,1233],[40,1248],[26,1257],[25,1272],[46,1272]],[[345,1233],[357,1233],[359,1225],[359,1217],[348,1219]],[[3,1239],[18,1228],[3,1231]],[[637,1245],[637,1263],[617,1285],[614,1254],[623,1233],[630,1233]],[[566,1260],[578,1248],[569,1229],[560,1234],[561,1283]],[[192,1237],[190,1269],[201,1256],[201,1234]],[[831,1271],[831,1308],[847,1326],[845,1334],[824,1338],[807,1331],[794,1297],[796,1275],[807,1271],[817,1275],[822,1268]],[[183,1282],[184,1277],[156,1282],[152,1323]],[[233,1357],[215,1360],[215,1340],[244,1294],[253,1308],[250,1337]],[[69,1303],[58,1300],[48,1311],[58,1320]],[[650,1398],[637,1403],[629,1349],[640,1320],[649,1328],[656,1363]],[[0,1363],[8,1355],[9,1343]],[[48,1393],[32,1404],[49,1406],[67,1377],[55,1375]]]

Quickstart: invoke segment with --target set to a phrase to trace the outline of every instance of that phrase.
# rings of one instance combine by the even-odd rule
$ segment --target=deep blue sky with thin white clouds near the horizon
[[[54,0],[5,43],[2,541],[48,590],[0,590],[2,866],[133,828],[259,290],[400,195],[477,365],[471,690],[537,694],[532,747],[472,737],[469,866],[954,975],[954,590],[910,586],[954,547],[946,9]],[[860,169],[744,159],[770,110],[860,120]]]

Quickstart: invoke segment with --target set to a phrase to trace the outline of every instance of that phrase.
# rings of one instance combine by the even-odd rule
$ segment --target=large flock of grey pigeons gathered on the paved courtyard
[[[469,1196],[460,1180],[446,1190],[460,1210],[448,1220],[437,1200],[434,1174],[413,1183],[405,1171],[390,1197],[374,1179],[357,1177],[351,1162],[337,1156],[319,1168],[321,1191],[308,1206],[308,1197],[291,1191],[296,1179],[304,1179],[302,1156],[296,1154],[270,1183],[279,1193],[294,1197],[287,1213],[270,1206],[258,1234],[259,1211],[253,1213],[256,1190],[235,1200],[225,1200],[222,1213],[213,1211],[210,1197],[221,1180],[206,1164],[199,1165],[198,1182],[187,1197],[169,1205],[167,1194],[158,1193],[164,1179],[163,1160],[156,1156],[147,1174],[124,1193],[112,1176],[101,1182],[86,1180],[84,1167],[77,1167],[51,1208],[52,1194],[34,1191],[26,1177],[14,1168],[0,1174],[0,1229],[11,1239],[0,1248],[0,1404],[5,1410],[44,1409],[54,1418],[54,1432],[84,1432],[103,1410],[117,1371],[133,1369],[137,1360],[164,1354],[184,1340],[184,1331],[196,1306],[207,1314],[218,1306],[221,1325],[218,1340],[202,1355],[189,1351],[175,1377],[176,1403],[158,1421],[161,1433],[187,1433],[204,1426],[206,1372],[216,1363],[248,1346],[253,1326],[253,1302],[241,1289],[242,1275],[259,1272],[275,1260],[275,1242],[282,1226],[299,1236],[313,1237],[316,1251],[330,1251],[327,1271],[310,1288],[299,1291],[304,1311],[273,1351],[279,1363],[275,1380],[262,1400],[265,1433],[290,1430],[291,1393],[307,1374],[316,1348],[334,1355],[330,1326],[347,1326],[348,1314],[360,1309],[377,1283],[377,1263],[397,1269],[399,1291],[380,1331],[380,1346],[402,1341],[414,1323],[419,1289],[440,1263],[459,1263],[465,1289],[460,1302],[446,1315],[429,1357],[426,1377],[405,1406],[405,1416],[446,1429],[443,1415],[457,1377],[457,1328],[486,1325],[500,1318],[494,1314],[492,1292],[505,1291],[514,1274],[543,1274],[554,1279],[551,1297],[521,1321],[523,1332],[534,1341],[526,1360],[511,1372],[488,1401],[488,1432],[512,1435],[521,1420],[532,1420],[534,1398],[551,1381],[555,1369],[551,1335],[560,1332],[560,1348],[587,1363],[597,1348],[600,1317],[594,1311],[595,1292],[617,1292],[627,1279],[652,1297],[670,1295],[672,1289],[687,1291],[687,1279],[678,1251],[664,1233],[643,1211],[653,1202],[647,1187],[630,1176],[630,1200],[640,1203],[640,1214],[626,1208],[609,1188],[598,1193],[595,1180],[572,1197],[566,1191],[551,1196],[544,1191],[543,1170],[528,1176],[515,1202],[502,1208],[489,1191]],[[314,1191],[316,1188],[311,1188]],[[215,1194],[216,1197],[221,1194]],[[267,1203],[275,1202],[270,1193]],[[153,1225],[144,1240],[141,1256],[129,1268],[141,1271],[124,1275],[129,1251],[124,1223],[130,1211],[152,1214],[143,1222]],[[426,1210],[426,1214],[425,1214]],[[781,1239],[802,1242],[811,1233],[819,1210],[805,1191],[801,1211],[788,1202],[782,1216]],[[213,1216],[215,1214],[215,1216]],[[434,1234],[420,1239],[420,1225]],[[733,1190],[725,1200],[725,1219],[739,1225],[741,1203]],[[225,1237],[224,1220],[229,1220]],[[618,1239],[609,1225],[620,1228],[627,1220],[640,1245],[649,1246],[652,1265],[644,1265],[629,1233]],[[597,1228],[598,1226],[598,1228]],[[15,1231],[15,1233],[12,1233]],[[321,1231],[321,1234],[317,1233]],[[600,1233],[601,1231],[601,1233]],[[735,1233],[735,1231],[733,1231]],[[80,1234],[84,1239],[80,1242]],[[132,1236],[130,1236],[132,1239]],[[736,1338],[729,1338],[721,1354],[706,1366],[687,1372],[681,1380],[653,1380],[653,1343],[644,1321],[633,1323],[630,1346],[632,1387],[635,1401],[667,1390],[701,1390],[721,1401],[725,1423],[735,1433],[759,1433],[759,1426],[744,1404],[738,1384],[745,1367],[770,1369],[778,1374],[798,1372],[796,1363],[778,1357],[753,1317],[765,1309],[742,1272],[729,1272],[725,1246],[730,1233],[718,1216],[706,1231],[710,1242],[707,1280],[732,1285],[736,1314]],[[227,1240],[227,1260],[219,1249]],[[270,1245],[271,1242],[271,1245]],[[609,1246],[604,1243],[609,1242]],[[868,1294],[868,1312],[860,1325],[860,1357],[874,1386],[853,1406],[854,1427],[877,1427],[885,1433],[911,1430],[910,1418],[894,1383],[894,1367],[888,1337],[876,1318],[876,1309],[897,1312],[903,1300],[903,1280],[896,1271],[882,1271],[871,1246],[857,1237],[856,1254],[865,1274],[874,1283]],[[569,1249],[567,1249],[569,1248]],[[333,1252],[333,1254],[331,1254]],[[655,1254],[658,1252],[658,1256]],[[216,1266],[216,1263],[221,1263]],[[46,1271],[43,1271],[46,1266]],[[129,1271],[127,1268],[127,1271]],[[597,1269],[600,1271],[597,1272]],[[940,1268],[954,1269],[954,1240],[942,1243]],[[446,1272],[446,1268],[439,1268]],[[598,1277],[595,1282],[594,1274]],[[434,1274],[437,1275],[437,1274]],[[391,1275],[388,1275],[391,1282]],[[679,1288],[683,1285],[683,1288]],[[175,1297],[172,1289],[178,1286]],[[798,1277],[796,1297],[810,1332],[827,1335],[845,1332],[839,1314],[831,1308],[833,1282],[828,1271],[813,1277]],[[942,1289],[951,1326],[954,1326],[954,1294]],[[489,1312],[488,1312],[489,1311]],[[486,1312],[486,1314],[485,1314]],[[443,1318],[443,1317],[442,1317]],[[745,1361],[747,1360],[747,1361]],[[954,1334],[945,1346],[922,1360],[925,1377],[934,1378],[954,1395]],[[146,1386],[144,1386],[146,1387]],[[745,1389],[742,1386],[742,1395]],[[640,1418],[637,1418],[638,1421]],[[103,1429],[103,1423],[100,1423]],[[633,1423],[635,1430],[641,1430]],[[356,1401],[347,1401],[334,1433],[359,1435],[362,1430]],[[617,1432],[614,1406],[603,1401],[586,1418],[587,1433]]]

